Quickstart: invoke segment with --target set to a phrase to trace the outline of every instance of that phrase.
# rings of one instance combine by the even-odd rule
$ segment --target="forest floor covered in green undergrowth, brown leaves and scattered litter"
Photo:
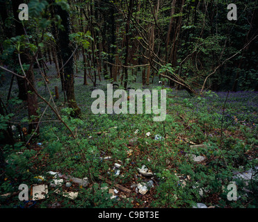
[[[53,65],[49,69],[48,87],[54,92],[55,86],[61,89],[61,83]],[[22,142],[14,130],[17,144],[15,148],[4,148],[9,161],[0,194],[17,191],[21,183],[45,184],[48,196],[37,200],[33,207],[193,207],[195,203],[207,207],[258,206],[258,92],[207,92],[192,97],[184,90],[167,89],[166,121],[154,122],[153,114],[92,114],[92,83],[83,85],[80,72],[75,76],[80,119],[69,117],[61,91],[54,101],[76,139],[56,122],[49,108],[42,117],[40,135],[27,147],[24,142],[29,135]],[[36,74],[35,79],[38,92],[48,100],[41,76]],[[98,80],[97,88],[106,91],[107,83]],[[9,84],[10,76],[6,76],[1,98],[7,97]],[[129,87],[143,89],[140,83],[130,83]],[[161,88],[155,78],[150,89]],[[14,114],[10,123],[26,127],[26,103],[15,102],[15,96],[16,82],[13,104],[8,108]],[[40,100],[38,103],[42,114],[46,104]],[[78,196],[72,199],[57,194],[58,186],[51,186],[49,171],[61,173],[61,193],[74,192]],[[89,185],[83,187],[63,176],[88,178]],[[241,176],[249,178],[242,180]],[[66,187],[65,181],[72,182],[72,186]],[[237,200],[231,201],[225,189],[232,181],[236,181]],[[150,186],[146,186],[145,193],[147,182]],[[0,204],[21,207],[17,195],[3,198]]]

